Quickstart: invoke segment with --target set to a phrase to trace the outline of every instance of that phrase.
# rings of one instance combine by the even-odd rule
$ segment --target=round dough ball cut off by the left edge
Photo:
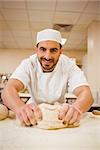
[[[8,108],[3,104],[0,104],[0,120],[6,119],[8,117]]]

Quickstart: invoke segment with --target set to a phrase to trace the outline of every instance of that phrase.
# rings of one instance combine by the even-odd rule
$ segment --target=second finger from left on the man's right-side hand
[[[73,113],[74,113],[74,108],[69,106],[68,112],[66,113],[65,118],[63,119],[63,122],[66,122],[69,124],[69,121],[71,120],[71,118],[73,117]]]

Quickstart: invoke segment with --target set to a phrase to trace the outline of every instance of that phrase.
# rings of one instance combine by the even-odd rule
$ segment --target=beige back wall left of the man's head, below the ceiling
[[[12,73],[22,59],[33,54],[33,50],[0,49],[0,72]]]

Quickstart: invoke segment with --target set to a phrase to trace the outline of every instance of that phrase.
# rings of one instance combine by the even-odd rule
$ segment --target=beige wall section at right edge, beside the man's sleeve
[[[95,101],[100,103],[100,21],[94,21],[88,28],[87,55],[83,60],[83,69]]]

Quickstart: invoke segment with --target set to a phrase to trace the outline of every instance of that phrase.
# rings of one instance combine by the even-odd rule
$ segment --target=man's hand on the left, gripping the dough
[[[34,103],[24,104],[16,110],[16,117],[22,125],[36,125],[42,119],[42,112]]]

